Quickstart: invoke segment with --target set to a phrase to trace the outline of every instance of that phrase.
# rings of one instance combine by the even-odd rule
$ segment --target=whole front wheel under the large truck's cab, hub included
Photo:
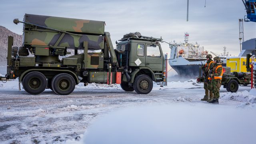
[[[152,79],[145,74],[139,75],[134,80],[133,88],[138,94],[148,94],[153,88]]]

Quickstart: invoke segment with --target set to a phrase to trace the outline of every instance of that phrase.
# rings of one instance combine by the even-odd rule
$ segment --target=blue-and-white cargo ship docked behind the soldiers
[[[171,52],[169,58],[170,66],[180,76],[197,77],[202,64],[207,62],[206,55],[208,51],[204,47],[188,42],[189,34],[185,33],[184,42],[176,43],[173,41],[169,44]]]

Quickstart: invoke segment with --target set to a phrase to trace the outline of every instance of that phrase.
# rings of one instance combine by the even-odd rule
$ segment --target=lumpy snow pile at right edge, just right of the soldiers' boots
[[[223,92],[220,96],[223,100],[235,100],[239,102],[250,102],[250,103],[256,103],[256,96],[253,96],[250,94],[250,92],[244,90],[242,92]]]

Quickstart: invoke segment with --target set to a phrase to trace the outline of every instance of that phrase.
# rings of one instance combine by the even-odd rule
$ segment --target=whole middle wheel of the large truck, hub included
[[[58,95],[71,94],[75,86],[76,82],[70,74],[57,74],[52,79],[52,90]]]

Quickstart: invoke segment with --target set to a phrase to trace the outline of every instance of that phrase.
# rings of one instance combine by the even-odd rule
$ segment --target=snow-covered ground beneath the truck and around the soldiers
[[[186,139],[186,134],[194,132],[194,135],[200,135],[199,130],[205,130],[205,126],[211,125],[215,125],[220,130],[213,130],[214,134],[210,137],[207,137],[209,134],[202,137],[215,138],[224,132],[234,132],[233,127],[251,136],[250,134],[255,134],[256,129],[254,126],[256,96],[250,95],[249,90],[250,86],[240,86],[238,92],[230,93],[221,88],[220,104],[213,105],[200,101],[204,96],[204,89],[203,84],[196,83],[196,80],[168,82],[166,87],[154,84],[152,92],[147,95],[124,92],[116,84],[110,86],[89,84],[86,87],[79,84],[68,96],[56,95],[51,90],[46,90],[36,96],[29,95],[23,89],[18,91],[18,81],[8,81],[5,84],[0,82],[0,143],[83,144],[86,142],[86,144],[95,144],[103,142],[97,141],[97,138],[109,143],[118,130],[120,132],[118,137],[123,138],[120,139],[121,141],[129,138],[130,140],[136,139],[138,132],[145,132],[140,140],[144,140],[143,138],[146,138],[148,134],[152,138],[152,143],[164,134],[161,137],[162,140],[170,143],[166,134],[173,135],[175,132],[180,134],[181,130],[187,130],[183,138],[173,135],[176,136],[175,140],[180,139],[180,143],[186,143],[182,141]],[[178,118],[178,116],[181,117]],[[152,117],[154,119],[150,119]],[[176,119],[171,119],[171,117]],[[150,120],[146,122],[146,119]],[[164,119],[166,120],[163,121]],[[225,127],[230,120],[234,120],[231,123],[234,125]],[[186,129],[191,122],[196,124],[191,128],[198,130]],[[124,126],[120,128],[122,124]],[[153,128],[148,128],[151,126]],[[173,126],[175,130],[166,129],[171,129]],[[132,128],[137,130],[137,133],[131,132]],[[230,130],[224,130],[224,128],[230,128]],[[152,132],[154,130],[158,134]],[[106,135],[106,132],[109,132],[109,135]],[[241,132],[234,132],[233,136],[240,135],[243,140],[245,137]],[[134,134],[125,135],[131,133]],[[230,136],[226,138],[228,140]],[[195,139],[195,143],[207,143],[203,140],[196,140],[198,139]],[[232,143],[234,140],[224,140],[220,143]],[[247,138],[244,142],[250,144],[252,142],[250,140]],[[112,143],[115,142],[118,141],[112,141]],[[128,140],[128,142],[132,141]],[[159,142],[164,143],[164,141]],[[239,140],[236,141],[236,143],[239,142]],[[119,143],[125,142],[119,141]]]

